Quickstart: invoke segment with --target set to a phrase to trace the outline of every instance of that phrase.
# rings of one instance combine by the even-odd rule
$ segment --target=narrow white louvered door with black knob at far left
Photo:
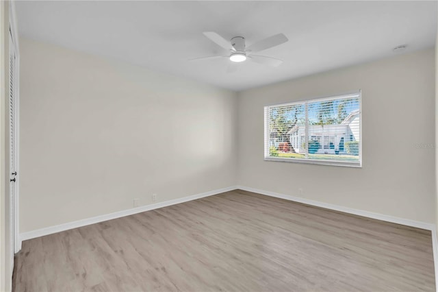
[[[10,238],[11,238],[11,248],[14,252],[18,252],[18,218],[17,218],[17,158],[18,158],[18,144],[17,144],[17,90],[18,84],[17,74],[16,74],[16,47],[14,45],[14,38],[12,37],[12,33],[10,32],[10,102],[9,102],[9,130],[10,130]],[[12,265],[14,263],[14,254],[12,254]]]

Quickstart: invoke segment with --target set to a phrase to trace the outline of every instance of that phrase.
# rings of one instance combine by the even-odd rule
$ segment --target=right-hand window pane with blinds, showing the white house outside
[[[309,108],[309,158],[359,161],[359,97],[312,101]]]

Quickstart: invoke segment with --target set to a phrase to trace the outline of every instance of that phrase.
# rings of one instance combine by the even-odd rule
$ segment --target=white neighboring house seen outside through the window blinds
[[[289,132],[289,143],[297,153],[305,153],[305,125],[296,125]],[[342,151],[344,143],[348,141],[359,141],[359,110],[353,110],[342,123],[335,125],[309,125],[309,141],[315,140],[320,143],[318,154],[335,154]]]

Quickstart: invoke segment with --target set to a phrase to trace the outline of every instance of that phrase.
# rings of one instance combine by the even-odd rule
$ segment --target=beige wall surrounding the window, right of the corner
[[[417,51],[240,93],[239,184],[434,223],[434,55]],[[363,168],[263,161],[263,106],[357,89]]]

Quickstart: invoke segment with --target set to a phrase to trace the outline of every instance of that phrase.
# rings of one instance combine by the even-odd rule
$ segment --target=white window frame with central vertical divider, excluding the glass
[[[359,161],[343,161],[343,160],[321,160],[321,159],[311,159],[308,158],[309,152],[308,152],[308,143],[309,143],[309,117],[308,117],[308,104],[312,102],[319,102],[319,101],[328,101],[333,99],[344,99],[348,97],[359,97]],[[310,164],[310,165],[330,165],[330,166],[336,166],[336,167],[362,167],[362,160],[363,160],[363,151],[362,151],[362,103],[363,103],[363,96],[362,96],[362,90],[355,90],[349,93],[343,93],[338,95],[329,95],[324,97],[315,97],[311,99],[301,99],[298,101],[292,101],[287,102],[283,104],[272,104],[269,106],[264,106],[263,108],[263,120],[264,120],[264,135],[263,135],[263,156],[265,161],[274,161],[274,162],[292,162],[292,163],[304,163],[304,164]],[[292,106],[296,104],[305,104],[305,125],[306,125],[306,131],[305,131],[305,143],[306,143],[306,154],[305,158],[282,158],[282,157],[272,157],[269,156],[269,139],[270,139],[270,130],[269,130],[269,123],[270,123],[270,108],[276,107],[276,106]],[[348,140],[349,141],[349,140]]]

